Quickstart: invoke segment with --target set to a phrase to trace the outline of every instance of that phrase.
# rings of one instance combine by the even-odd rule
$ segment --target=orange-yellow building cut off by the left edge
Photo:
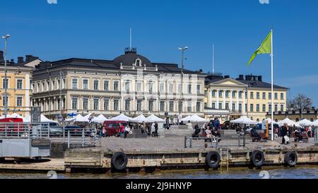
[[[39,63],[37,57],[27,56],[18,58],[18,62],[13,60],[7,62],[7,76],[5,78],[4,52],[0,51],[0,115],[4,115],[5,100],[7,98],[7,113],[9,115],[14,112],[23,117],[30,116],[32,89],[33,67],[30,64]],[[5,87],[6,94],[5,94]]]

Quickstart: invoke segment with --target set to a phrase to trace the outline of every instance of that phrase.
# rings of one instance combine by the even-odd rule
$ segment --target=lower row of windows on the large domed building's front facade
[[[142,100],[136,101],[137,111],[142,111]],[[160,101],[160,111],[165,112],[165,101]],[[148,101],[148,111],[153,112],[154,101]],[[72,109],[78,110],[78,98],[72,98]],[[83,110],[88,110],[88,98],[83,98]],[[98,98],[94,98],[93,100],[93,110],[100,110],[100,100]],[[104,100],[103,110],[110,110],[110,100]],[[113,110],[119,111],[119,99],[113,100]],[[124,100],[124,110],[131,110],[131,100]],[[170,112],[175,112],[175,102],[169,102]],[[179,111],[183,112],[183,103],[179,103]],[[187,105],[187,112],[192,112],[192,102],[189,101]],[[201,102],[196,103],[196,112],[201,112]]]

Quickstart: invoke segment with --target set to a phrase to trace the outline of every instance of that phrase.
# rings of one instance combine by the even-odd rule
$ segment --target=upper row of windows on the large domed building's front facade
[[[152,81],[150,81],[148,83],[148,92],[149,93],[152,93],[154,91],[154,85],[155,85],[155,83],[152,82]],[[103,90],[110,90],[110,81],[105,80],[103,86],[104,86]],[[73,80],[72,80],[72,88],[73,89],[78,89],[78,79],[77,78],[73,78]],[[88,79],[83,79],[82,88],[84,90],[88,90],[89,89]],[[100,81],[98,81],[98,80],[94,80],[93,81],[93,90],[100,90]],[[114,91],[119,91],[119,81],[114,81],[113,90]],[[124,82],[124,91],[129,92],[130,90],[131,90],[131,82],[130,81],[125,81]],[[169,84],[169,92],[173,93],[174,90],[175,90],[174,89],[174,84],[170,83]],[[179,85],[178,85],[179,93],[181,93],[181,90],[182,90],[182,86],[181,86],[181,83],[179,83]],[[136,83],[136,91],[137,92],[141,92],[142,91],[142,83],[141,82],[137,82]],[[160,83],[159,91],[161,93],[165,92],[165,83]],[[201,85],[197,85],[196,86],[196,92],[197,93],[201,93]],[[192,84],[188,84],[187,93],[189,93],[189,94],[192,93]]]

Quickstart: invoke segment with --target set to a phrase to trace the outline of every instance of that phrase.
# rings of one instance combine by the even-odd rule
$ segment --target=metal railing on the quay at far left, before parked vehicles
[[[67,143],[68,148],[101,146],[96,129],[50,126],[49,123],[0,123],[0,139],[49,139]]]

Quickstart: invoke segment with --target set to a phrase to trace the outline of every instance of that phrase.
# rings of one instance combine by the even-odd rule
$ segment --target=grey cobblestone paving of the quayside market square
[[[279,146],[286,146],[286,147],[294,147],[295,143],[293,139],[290,140],[289,145],[281,145],[281,138],[276,139],[275,142],[262,142],[262,143],[253,143],[252,139],[246,139],[246,146],[249,148],[255,148],[256,146],[269,148],[269,147],[279,147]],[[148,137],[147,139],[122,139],[117,137],[107,137],[102,139],[102,148],[109,148],[109,149],[120,149],[123,150],[148,150],[148,151],[155,151],[155,150],[172,150],[172,149],[184,149],[184,137],[177,136],[177,137],[161,137],[161,138],[154,138]],[[193,146],[197,148],[204,148],[204,140],[193,141]],[[208,143],[211,145],[211,143]],[[242,141],[241,141],[242,145]],[[308,143],[298,143],[298,147],[307,147],[313,146],[314,139],[310,139]],[[238,148],[238,139],[223,139],[219,146],[228,146],[231,148]]]

